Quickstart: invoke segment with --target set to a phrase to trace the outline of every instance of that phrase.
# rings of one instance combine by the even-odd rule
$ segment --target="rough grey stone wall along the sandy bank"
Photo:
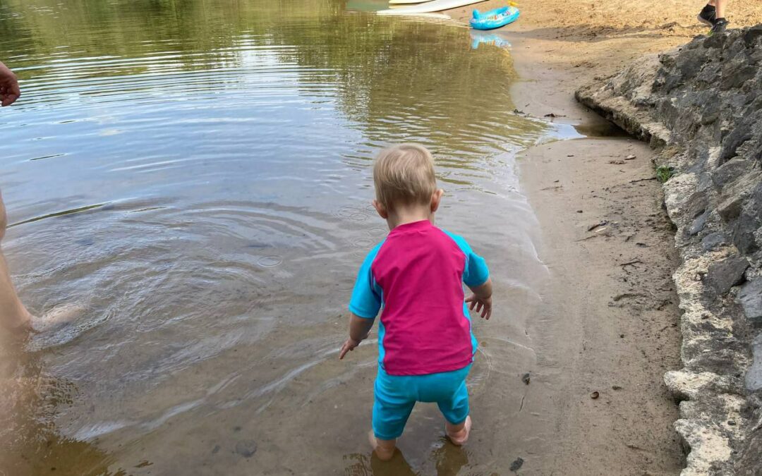
[[[680,401],[683,474],[762,474],[762,25],[698,37],[576,95],[659,149],[669,177],[684,368],[664,381]]]

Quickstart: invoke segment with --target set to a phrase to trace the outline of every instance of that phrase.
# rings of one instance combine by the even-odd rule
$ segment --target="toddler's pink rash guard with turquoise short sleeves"
[[[349,310],[376,318],[379,365],[389,375],[427,375],[472,363],[476,339],[463,283],[481,286],[487,265],[463,238],[428,220],[399,225],[360,267]]]

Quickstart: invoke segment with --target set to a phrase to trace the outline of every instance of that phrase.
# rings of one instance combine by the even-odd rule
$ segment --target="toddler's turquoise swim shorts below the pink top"
[[[473,364],[471,364],[473,365]],[[415,402],[436,402],[453,425],[469,416],[466,375],[471,365],[452,372],[428,375],[389,375],[379,367],[373,402],[373,433],[378,439],[402,436]]]

